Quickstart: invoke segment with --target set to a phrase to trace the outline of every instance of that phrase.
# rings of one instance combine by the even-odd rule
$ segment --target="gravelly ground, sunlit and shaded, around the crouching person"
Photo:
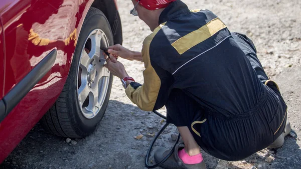
[[[285,138],[283,147],[273,151],[263,149],[242,161],[224,161],[205,152],[208,168],[300,168],[301,134],[301,1],[291,0],[184,0],[190,9],[209,9],[232,32],[248,35],[256,45],[258,57],[268,76],[275,80],[288,105],[288,120],[292,132]],[[143,38],[150,34],[144,23],[130,16],[130,1],[119,1],[123,26],[123,45],[140,51]],[[124,63],[129,75],[143,82],[143,64]],[[166,110],[160,110],[163,114]],[[115,78],[107,111],[99,127],[83,139],[66,140],[44,132],[37,124],[16,147],[0,168],[144,168],[148,145],[164,122],[157,115],[144,112],[126,97],[120,81]],[[170,147],[169,126],[155,144]],[[142,134],[141,139],[134,136]],[[67,143],[70,141],[69,143]]]

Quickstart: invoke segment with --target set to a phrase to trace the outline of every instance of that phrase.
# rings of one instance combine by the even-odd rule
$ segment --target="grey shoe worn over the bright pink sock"
[[[183,143],[178,143],[175,147],[174,153],[160,166],[166,169],[206,169],[206,164],[204,160],[196,164],[186,164],[184,163],[178,155],[178,150],[184,148]],[[162,161],[163,158],[169,153],[170,150],[162,147],[156,150],[154,158],[156,162]]]

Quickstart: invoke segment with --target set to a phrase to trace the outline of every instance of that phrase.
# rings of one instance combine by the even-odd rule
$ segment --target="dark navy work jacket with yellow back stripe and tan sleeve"
[[[256,107],[265,85],[247,59],[248,51],[216,15],[189,11],[176,1],[162,12],[159,24],[143,42],[143,85],[132,82],[125,90],[134,104],[146,111],[160,109],[170,91],[179,88],[217,116]]]

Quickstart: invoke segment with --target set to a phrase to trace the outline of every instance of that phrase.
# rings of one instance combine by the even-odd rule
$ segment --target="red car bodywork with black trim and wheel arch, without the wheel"
[[[0,1],[0,163],[59,97],[90,7],[103,12],[121,44],[113,0]]]

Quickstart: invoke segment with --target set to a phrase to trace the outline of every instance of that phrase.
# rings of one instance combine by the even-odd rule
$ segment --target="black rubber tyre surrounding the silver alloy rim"
[[[114,44],[113,35],[110,28],[111,27],[105,15],[100,10],[91,7],[81,28],[70,72],[63,91],[52,108],[41,119],[42,125],[50,133],[62,137],[81,138],[92,133],[97,124],[101,121],[109,101],[113,76],[108,73],[108,80],[106,80],[106,84],[108,84],[108,86],[106,87],[106,94],[102,97],[104,98],[102,106],[100,108],[97,107],[99,108],[99,111],[97,109],[97,112],[93,118],[87,118],[83,113],[84,108],[81,107],[84,105],[84,103],[80,104],[81,101],[78,93],[78,76],[82,77],[81,74],[79,75],[79,65],[81,61],[82,50],[85,50],[86,42],[93,30],[100,29],[106,36],[107,45],[110,46]],[[96,36],[97,35],[98,34],[96,34]],[[94,68],[94,70],[96,71],[97,69]],[[97,77],[97,73],[95,77]],[[89,87],[91,88],[91,86]]]

